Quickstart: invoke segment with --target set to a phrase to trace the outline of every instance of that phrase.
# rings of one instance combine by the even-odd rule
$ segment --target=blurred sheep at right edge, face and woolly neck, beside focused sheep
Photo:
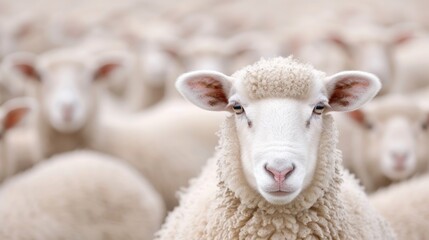
[[[336,118],[344,165],[367,192],[428,172],[429,111],[414,99],[383,96]]]

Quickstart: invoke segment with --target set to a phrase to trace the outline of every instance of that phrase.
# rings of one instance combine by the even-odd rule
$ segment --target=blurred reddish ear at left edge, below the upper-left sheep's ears
[[[3,112],[3,131],[14,128],[34,107],[34,101],[29,98],[15,98],[1,106]]]

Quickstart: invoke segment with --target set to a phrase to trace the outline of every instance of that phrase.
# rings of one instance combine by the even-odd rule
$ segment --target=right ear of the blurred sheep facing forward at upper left
[[[97,59],[93,79],[95,81],[109,79],[119,69],[125,70],[129,66],[129,57],[126,53],[108,53]]]

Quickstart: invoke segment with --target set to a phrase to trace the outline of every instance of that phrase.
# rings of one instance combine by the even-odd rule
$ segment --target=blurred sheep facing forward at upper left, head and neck
[[[118,109],[96,85],[121,67],[120,56],[94,59],[71,48],[52,50],[37,58],[16,53],[13,61],[11,70],[21,73],[33,86],[29,95],[39,104],[36,129],[44,157],[85,147],[99,112]]]

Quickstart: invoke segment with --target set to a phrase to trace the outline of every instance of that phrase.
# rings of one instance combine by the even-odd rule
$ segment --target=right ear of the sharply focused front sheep
[[[360,108],[380,91],[380,80],[371,73],[344,71],[326,78],[331,111],[348,112]]]

